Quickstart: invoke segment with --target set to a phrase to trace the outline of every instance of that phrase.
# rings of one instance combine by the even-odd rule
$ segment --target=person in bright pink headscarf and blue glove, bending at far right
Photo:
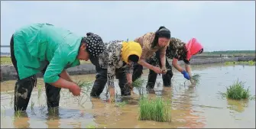
[[[192,72],[190,69],[190,59],[193,55],[203,53],[203,46],[196,40],[192,38],[187,44],[181,40],[171,37],[170,44],[166,50],[166,56],[168,59],[173,60],[172,65],[180,73],[183,74],[184,78],[190,80],[192,77]],[[152,56],[148,63],[151,63],[154,66],[160,65],[157,60],[160,60],[159,52],[156,55]],[[185,63],[185,69],[183,69],[179,64],[178,60],[183,60]],[[171,78],[173,77],[172,67],[167,62],[167,74],[163,75],[164,86],[169,87],[171,85]],[[157,73],[154,73],[153,70],[150,70],[147,78],[147,88],[153,89],[157,79]]]

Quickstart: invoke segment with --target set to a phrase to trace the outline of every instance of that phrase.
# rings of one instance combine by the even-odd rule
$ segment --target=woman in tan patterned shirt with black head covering
[[[153,70],[155,73],[166,74],[167,68],[165,64],[167,59],[165,54],[167,46],[170,43],[170,31],[166,27],[160,26],[156,32],[149,32],[144,34],[143,36],[136,38],[134,41],[141,45],[142,54],[138,63],[134,64],[132,82],[141,77],[143,66],[147,69]],[[151,56],[154,56],[157,51],[159,51],[160,55],[160,60],[157,61],[159,61],[161,64],[164,64],[161,67],[153,66],[150,63],[147,63],[147,60],[150,59]],[[131,89],[133,88],[131,83],[128,85],[130,85]]]

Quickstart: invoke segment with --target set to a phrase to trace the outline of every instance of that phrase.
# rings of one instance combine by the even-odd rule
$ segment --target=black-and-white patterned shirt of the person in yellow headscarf
[[[105,43],[105,51],[99,55],[99,66],[102,69],[108,69],[107,84],[115,87],[114,77],[115,69],[125,68],[126,73],[133,73],[133,63],[127,65],[122,60],[122,40],[112,40]]]

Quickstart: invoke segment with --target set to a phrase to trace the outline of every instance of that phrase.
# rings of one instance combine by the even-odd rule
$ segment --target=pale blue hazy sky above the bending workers
[[[205,50],[255,50],[255,2],[2,2],[1,44],[18,27],[50,23],[81,36],[133,40],[164,25],[172,37],[196,37]],[[9,48],[1,48],[9,52]]]

